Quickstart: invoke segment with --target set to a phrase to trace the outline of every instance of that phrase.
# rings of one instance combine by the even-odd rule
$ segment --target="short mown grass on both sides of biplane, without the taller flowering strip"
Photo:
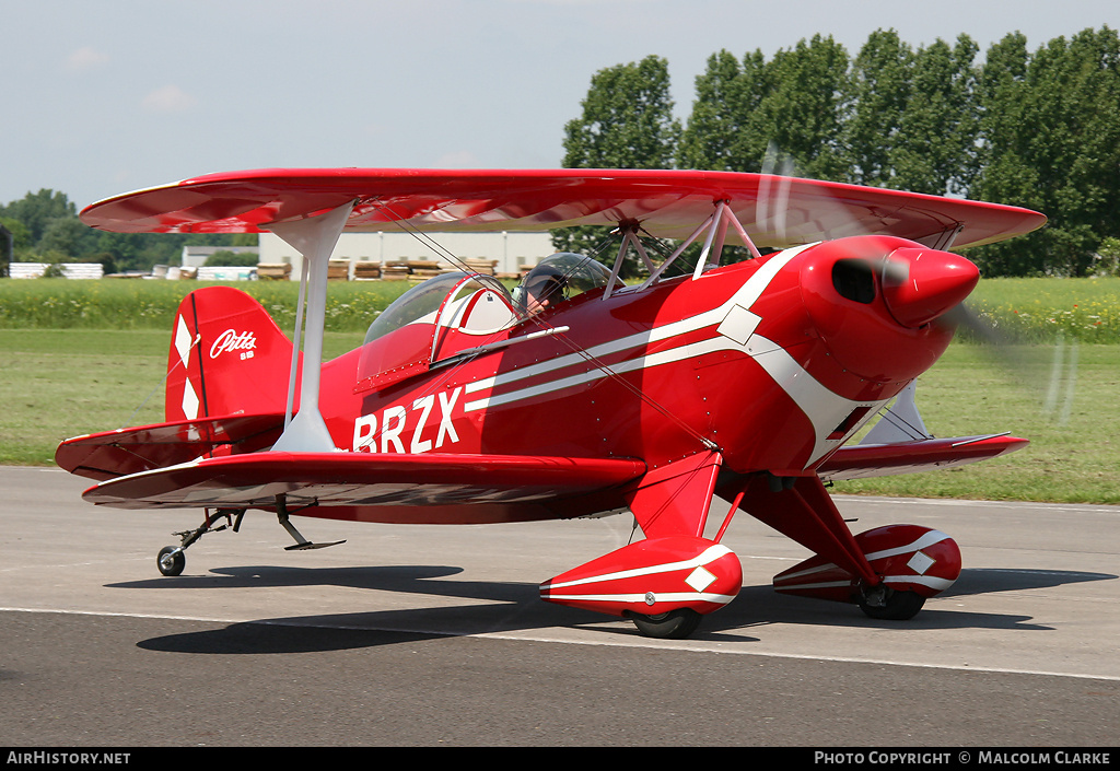
[[[166,331],[0,329],[0,463],[53,463],[64,438],[162,420]],[[328,333],[325,353],[361,344]],[[1066,349],[1066,359],[1070,360]],[[1077,346],[1072,399],[1046,409],[1051,346],[1016,349],[1016,372],[989,346],[954,343],[918,379],[917,403],[937,436],[1010,430],[1018,453],[961,468],[841,482],[838,493],[1120,503],[1120,345]],[[1067,384],[1065,370],[1058,382]],[[147,400],[147,401],[146,401]]]

